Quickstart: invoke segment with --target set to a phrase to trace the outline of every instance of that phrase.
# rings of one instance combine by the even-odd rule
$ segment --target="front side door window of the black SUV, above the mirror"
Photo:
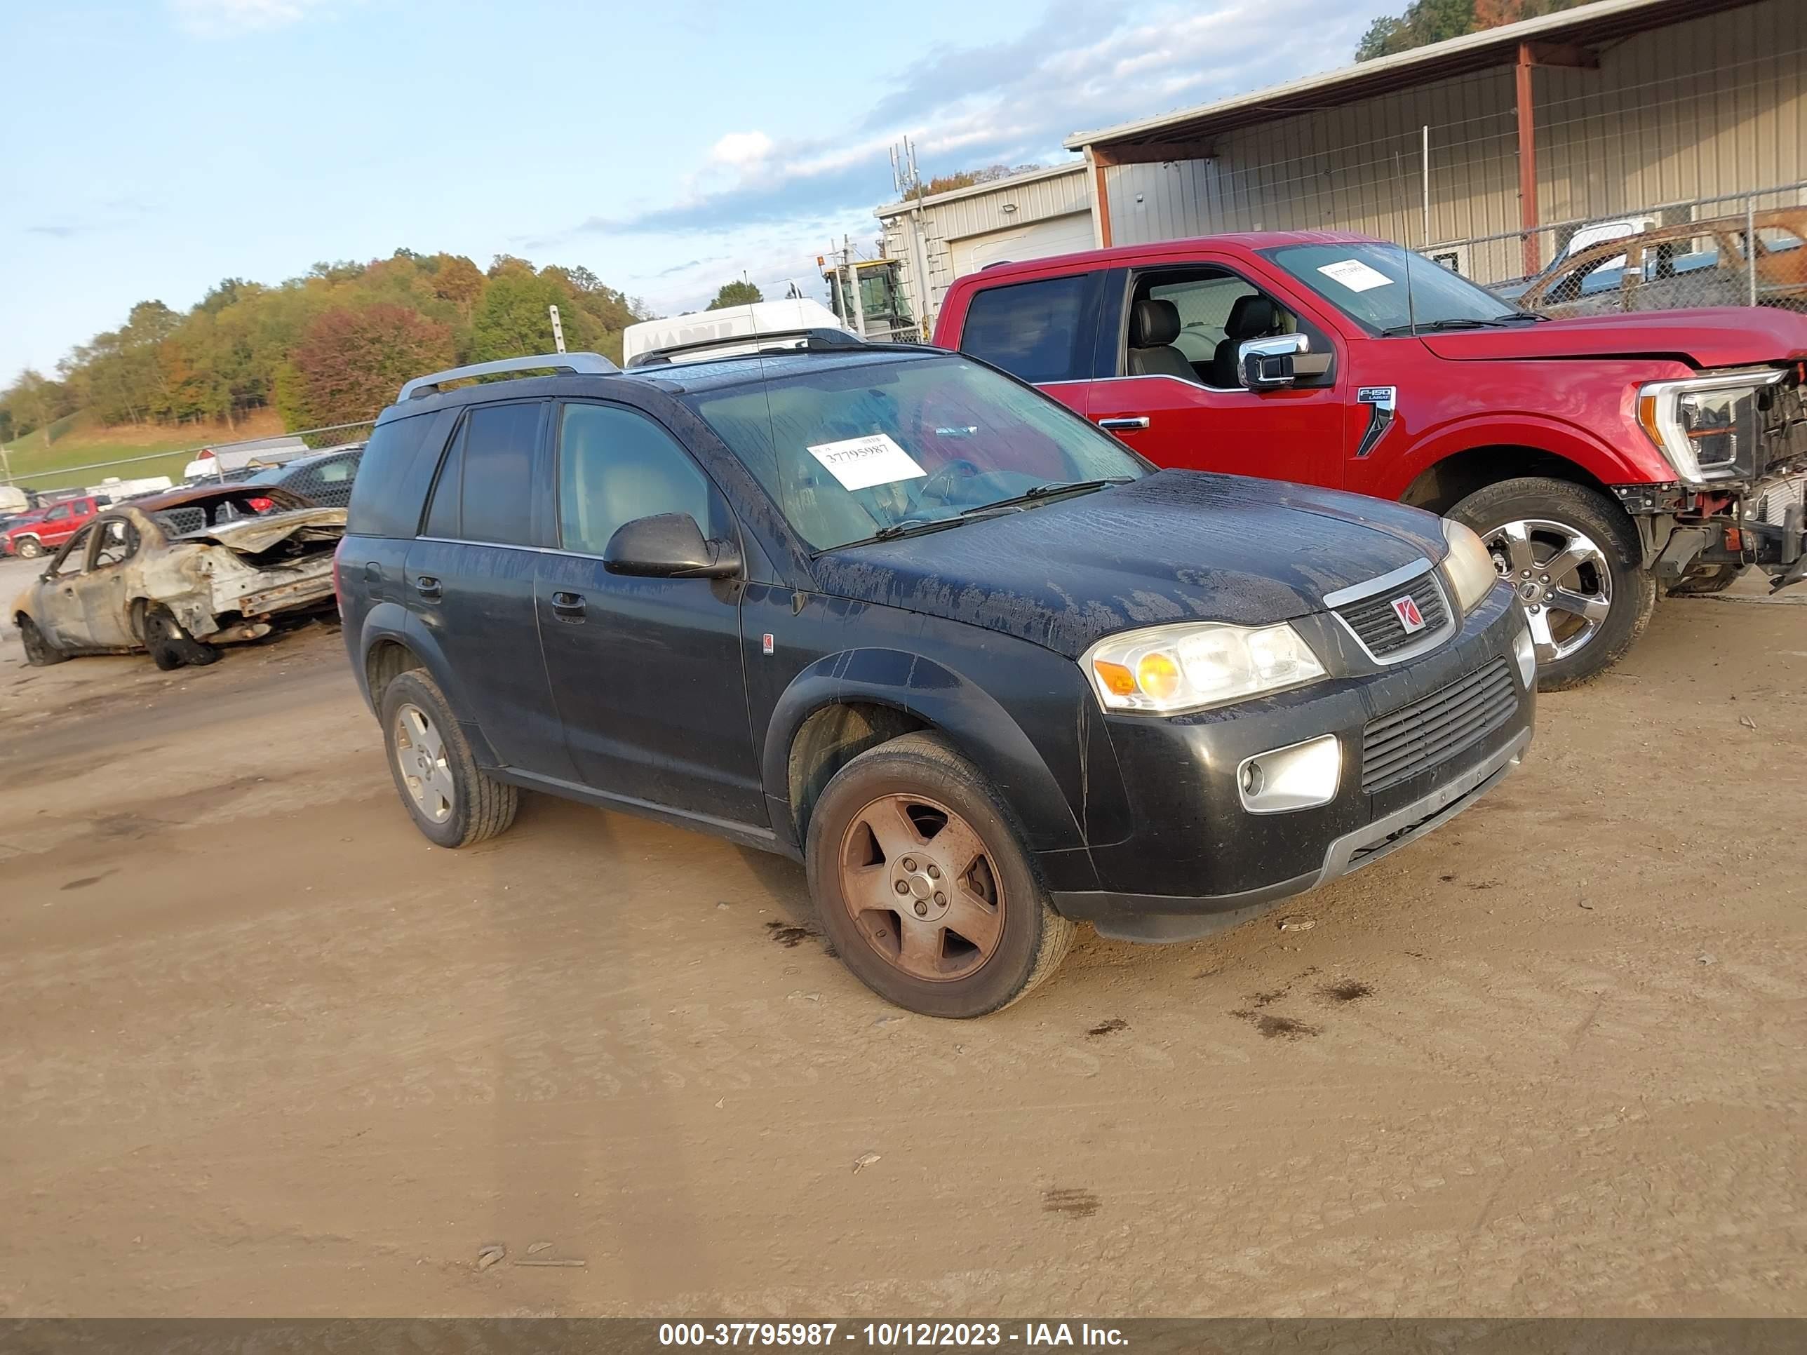
[[[558,428],[558,538],[602,555],[623,522],[688,513],[710,535],[708,481],[652,419],[613,405],[566,405]]]

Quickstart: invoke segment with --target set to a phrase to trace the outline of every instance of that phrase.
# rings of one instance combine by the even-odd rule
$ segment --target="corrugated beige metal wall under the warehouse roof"
[[[1637,34],[1599,70],[1540,67],[1541,220],[1807,177],[1807,2],[1762,0]],[[1227,132],[1209,161],[1106,170],[1117,244],[1236,229],[1353,229],[1424,246],[1516,231],[1511,67]],[[1420,128],[1431,128],[1422,224]],[[1516,271],[1516,246],[1464,258]]]

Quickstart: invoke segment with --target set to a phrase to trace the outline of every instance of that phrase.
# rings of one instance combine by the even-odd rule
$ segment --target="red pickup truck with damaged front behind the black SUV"
[[[1657,585],[1807,578],[1807,316],[1545,320],[1343,233],[999,264],[934,341],[1043,387],[1160,466],[1399,499],[1475,528],[1540,685],[1614,663]]]

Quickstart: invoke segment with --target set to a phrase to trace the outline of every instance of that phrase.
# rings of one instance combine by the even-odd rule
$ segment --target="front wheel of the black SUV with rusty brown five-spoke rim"
[[[1005,799],[932,734],[855,757],[810,815],[822,934],[867,988],[934,1017],[978,1017],[1061,965],[1053,911]]]

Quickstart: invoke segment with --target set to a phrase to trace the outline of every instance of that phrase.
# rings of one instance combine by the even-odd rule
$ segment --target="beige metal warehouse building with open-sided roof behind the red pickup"
[[[992,258],[1236,229],[1364,231],[1503,282],[1588,220],[1807,202],[1807,0],[1596,0],[1066,146],[1084,164],[880,208],[931,316]]]

